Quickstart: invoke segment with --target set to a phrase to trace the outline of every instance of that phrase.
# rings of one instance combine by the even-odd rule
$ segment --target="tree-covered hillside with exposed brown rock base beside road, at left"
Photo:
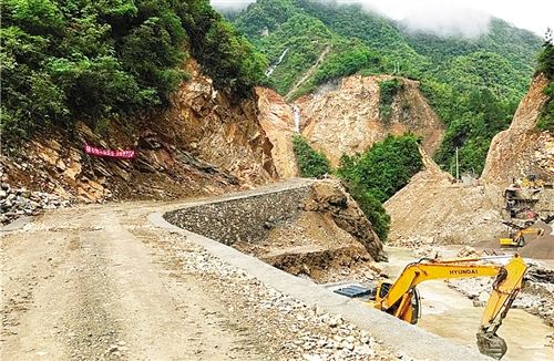
[[[1,7],[2,184],[102,202],[276,176],[253,89],[267,65],[207,0]]]

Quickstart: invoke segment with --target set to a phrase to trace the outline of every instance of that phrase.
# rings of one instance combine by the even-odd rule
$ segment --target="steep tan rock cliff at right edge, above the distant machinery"
[[[547,84],[543,75],[535,78],[510,128],[492,140],[482,174],[484,182],[505,186],[512,178],[530,174],[554,180],[554,134],[536,130],[541,107],[547,99],[543,94]]]

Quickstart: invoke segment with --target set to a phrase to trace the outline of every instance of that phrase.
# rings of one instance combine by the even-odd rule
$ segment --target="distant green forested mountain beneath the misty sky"
[[[475,38],[439,37],[331,1],[258,0],[232,20],[277,65],[266,81],[289,100],[353,73],[421,81],[447,125],[438,163],[450,169],[459,147],[462,171],[475,174],[491,138],[509,126],[542,43],[501,19]]]

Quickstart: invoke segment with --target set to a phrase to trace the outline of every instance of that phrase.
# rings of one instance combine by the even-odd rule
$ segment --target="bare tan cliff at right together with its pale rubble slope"
[[[546,84],[543,76],[534,79],[510,128],[493,138],[480,185],[453,184],[427,158],[427,169],[384,204],[391,216],[389,238],[393,243],[413,247],[497,247],[497,238],[505,230],[501,221],[507,217],[503,214],[503,192],[512,178],[535,174],[542,180],[554,179],[554,135],[536,130],[540,110],[546,101],[542,92]],[[542,189],[535,199],[532,210],[541,217],[554,212],[552,189]]]

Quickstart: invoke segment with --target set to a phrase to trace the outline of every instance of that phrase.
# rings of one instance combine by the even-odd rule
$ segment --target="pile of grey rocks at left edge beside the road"
[[[2,182],[0,187],[0,224],[8,224],[20,216],[38,214],[41,209],[70,206],[70,202],[54,194],[12,188]]]

